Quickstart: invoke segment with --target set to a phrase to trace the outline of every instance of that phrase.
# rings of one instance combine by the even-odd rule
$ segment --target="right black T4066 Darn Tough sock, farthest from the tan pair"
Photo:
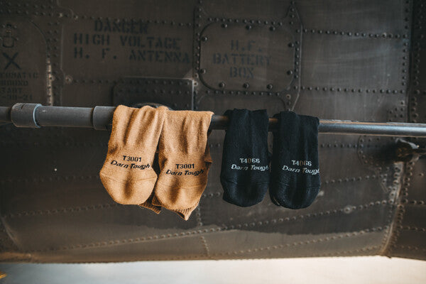
[[[317,117],[282,111],[274,116],[271,200],[290,209],[310,206],[320,190]]]

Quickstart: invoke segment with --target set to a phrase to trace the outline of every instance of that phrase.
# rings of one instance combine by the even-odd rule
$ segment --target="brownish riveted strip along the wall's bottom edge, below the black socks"
[[[268,239],[265,241],[265,237]],[[348,256],[371,255],[377,246],[368,246],[379,242],[380,231],[344,232],[342,234],[294,235],[283,238],[280,234],[250,233],[247,231],[228,231],[205,236],[209,244],[209,256],[212,258],[277,258],[281,253],[300,253],[302,256]],[[346,247],[351,239],[354,246]],[[324,253],[327,251],[327,253]]]

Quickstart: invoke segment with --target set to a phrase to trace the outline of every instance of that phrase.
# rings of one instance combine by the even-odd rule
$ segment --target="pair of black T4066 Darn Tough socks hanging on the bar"
[[[271,174],[266,110],[228,110],[221,182],[224,200],[249,207],[268,191],[274,204],[290,209],[308,207],[320,190],[319,120],[291,111],[275,114]]]

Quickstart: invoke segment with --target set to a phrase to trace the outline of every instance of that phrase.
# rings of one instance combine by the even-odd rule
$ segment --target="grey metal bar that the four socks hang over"
[[[19,111],[19,109],[24,109],[24,107],[33,107],[34,105],[35,104],[15,104],[13,107],[0,107],[0,124],[8,122],[13,123],[11,116],[18,117],[20,114],[19,112],[13,111]],[[40,106],[33,109],[34,114],[31,116],[31,119],[35,119],[37,127],[85,127],[102,130],[107,129],[107,126],[111,124],[115,107],[89,108]],[[25,115],[28,116],[28,114]],[[276,129],[277,122],[277,119],[269,119],[270,131]],[[227,124],[228,118],[226,116],[214,115],[212,116],[210,129],[226,129]],[[364,134],[371,136],[426,137],[426,124],[395,122],[377,123],[322,119],[320,120],[319,132],[345,135]]]

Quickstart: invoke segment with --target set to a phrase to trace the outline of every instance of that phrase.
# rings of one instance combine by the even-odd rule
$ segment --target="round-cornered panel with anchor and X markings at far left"
[[[23,18],[1,17],[0,38],[0,104],[49,103],[48,57],[40,29]]]

